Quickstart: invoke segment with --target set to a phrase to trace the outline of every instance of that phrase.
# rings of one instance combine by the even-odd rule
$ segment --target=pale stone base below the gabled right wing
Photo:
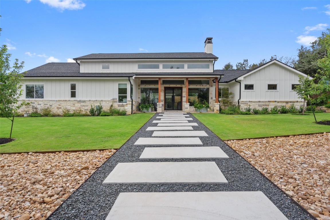
[[[281,106],[289,107],[292,104],[294,104],[296,108],[299,108],[300,106],[303,106],[304,101],[241,101],[240,107],[241,110],[244,110],[250,105],[251,109],[256,108],[261,110],[263,107],[270,109],[277,106],[278,108],[281,108]],[[305,102],[305,107],[306,107],[306,102]]]

